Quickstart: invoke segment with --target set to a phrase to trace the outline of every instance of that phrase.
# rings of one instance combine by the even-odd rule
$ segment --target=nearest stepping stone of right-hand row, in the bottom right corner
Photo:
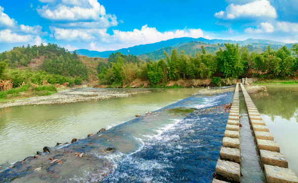
[[[272,165],[264,165],[265,176],[268,183],[297,183],[298,177],[295,172],[288,168]]]

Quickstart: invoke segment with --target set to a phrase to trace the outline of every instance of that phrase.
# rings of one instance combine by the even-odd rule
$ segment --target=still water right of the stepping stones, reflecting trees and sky
[[[298,85],[265,85],[268,93],[249,94],[279,144],[289,168],[298,175]]]

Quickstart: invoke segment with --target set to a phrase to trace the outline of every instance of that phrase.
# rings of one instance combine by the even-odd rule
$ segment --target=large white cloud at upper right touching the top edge
[[[229,4],[225,11],[216,12],[216,18],[276,18],[276,10],[268,0],[257,0],[244,5]]]

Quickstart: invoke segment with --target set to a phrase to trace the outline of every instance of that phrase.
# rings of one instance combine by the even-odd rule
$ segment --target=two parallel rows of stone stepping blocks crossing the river
[[[255,138],[259,161],[263,168],[267,183],[294,183],[298,177],[293,170],[288,169],[288,162],[280,153],[279,145],[274,141],[272,133],[262,120],[257,108],[241,85],[248,118]],[[241,151],[240,151],[240,124],[239,115],[239,84],[236,85],[233,103],[227,120],[226,131],[224,132],[223,147],[220,150],[220,159],[216,164],[214,183],[242,182],[241,174]],[[246,168],[246,167],[245,167]],[[262,180],[259,180],[262,181]],[[253,181],[258,182],[258,181]]]

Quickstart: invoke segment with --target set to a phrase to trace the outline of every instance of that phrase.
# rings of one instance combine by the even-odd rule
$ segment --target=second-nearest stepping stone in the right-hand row
[[[266,164],[266,165],[288,168],[288,162],[286,160],[286,157],[281,153],[261,149],[260,158],[261,158],[262,165]]]

